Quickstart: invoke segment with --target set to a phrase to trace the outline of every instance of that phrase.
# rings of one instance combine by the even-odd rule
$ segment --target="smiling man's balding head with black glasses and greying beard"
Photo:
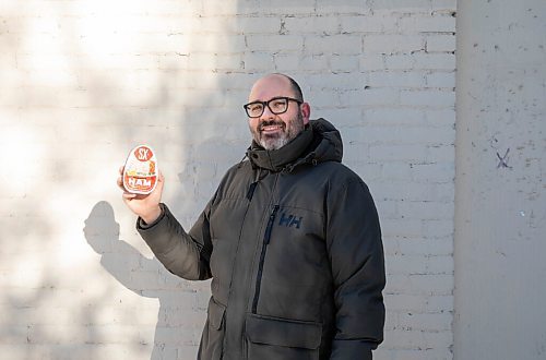
[[[309,104],[299,85],[284,74],[258,80],[245,110],[253,140],[265,149],[283,147],[309,123]]]

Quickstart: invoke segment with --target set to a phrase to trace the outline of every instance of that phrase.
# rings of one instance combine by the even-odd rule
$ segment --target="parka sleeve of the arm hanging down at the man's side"
[[[383,245],[368,187],[352,180],[328,200],[327,243],[334,280],[331,359],[371,359],[383,340]]]

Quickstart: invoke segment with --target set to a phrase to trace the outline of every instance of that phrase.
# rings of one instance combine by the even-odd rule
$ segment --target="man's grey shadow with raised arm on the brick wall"
[[[159,300],[151,360],[180,359],[197,351],[204,319],[198,290],[170,274],[156,259],[147,259],[119,239],[119,224],[108,202],[95,204],[83,229],[87,243],[100,255],[100,265],[134,293]],[[204,315],[203,315],[204,316]]]

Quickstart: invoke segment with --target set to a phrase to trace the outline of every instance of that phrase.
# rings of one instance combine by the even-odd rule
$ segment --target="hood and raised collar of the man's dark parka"
[[[324,119],[310,120],[296,139],[283,147],[266,151],[256,142],[247,149],[253,167],[271,171],[292,171],[302,164],[341,163],[343,142],[335,127]]]

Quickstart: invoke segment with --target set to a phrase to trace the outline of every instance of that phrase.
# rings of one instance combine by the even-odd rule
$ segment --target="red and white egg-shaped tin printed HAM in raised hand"
[[[158,169],[155,152],[149,145],[134,147],[123,168],[123,188],[133,194],[147,195],[157,185]]]

